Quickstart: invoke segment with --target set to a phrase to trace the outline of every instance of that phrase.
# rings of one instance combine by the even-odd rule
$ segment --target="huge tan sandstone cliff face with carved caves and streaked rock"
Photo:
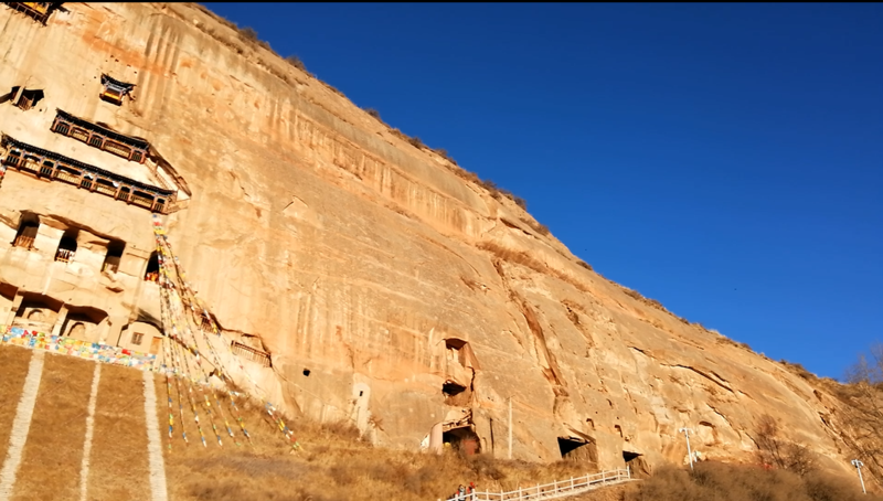
[[[392,447],[471,428],[506,457],[511,399],[515,458],[558,459],[563,438],[600,468],[681,462],[684,426],[704,456],[743,459],[769,413],[848,466],[829,395],[578,266],[514,203],[199,8],[65,8],[46,26],[0,10],[0,94],[45,93],[26,111],[0,104],[0,130],[156,182],[49,126],[62,108],[148,139],[192,192],[164,216],[190,280],[225,332],[272,354],[247,367],[288,411],[353,419]],[[100,102],[102,73],[136,84],[136,100]],[[45,222],[49,254],[0,250],[7,316],[24,292],[100,309],[117,331],[158,315],[141,280],[147,211],[10,171],[3,245],[23,211]],[[52,271],[70,224],[99,257]],[[111,238],[127,243],[116,287],[96,270]]]

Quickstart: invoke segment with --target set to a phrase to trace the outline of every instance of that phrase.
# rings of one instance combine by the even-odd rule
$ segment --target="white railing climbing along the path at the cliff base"
[[[539,501],[546,499],[564,498],[579,492],[596,489],[608,483],[631,480],[631,469],[619,468],[600,473],[586,475],[585,477],[557,480],[552,483],[522,487],[509,492],[474,492],[471,494],[457,494],[447,501]]]

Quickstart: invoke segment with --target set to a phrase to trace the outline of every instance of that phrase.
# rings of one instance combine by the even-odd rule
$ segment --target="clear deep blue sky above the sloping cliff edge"
[[[883,341],[881,4],[206,6],[679,316],[832,377]]]

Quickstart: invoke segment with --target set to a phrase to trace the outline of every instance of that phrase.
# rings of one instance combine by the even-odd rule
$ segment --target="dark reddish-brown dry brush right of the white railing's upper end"
[[[625,501],[881,501],[863,495],[858,480],[828,475],[806,478],[754,466],[700,462],[694,471],[663,467],[634,486]]]

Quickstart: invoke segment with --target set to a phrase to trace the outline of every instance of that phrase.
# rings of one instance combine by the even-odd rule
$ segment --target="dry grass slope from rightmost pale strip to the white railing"
[[[174,391],[172,396],[177,405]],[[223,448],[211,443],[208,448],[185,446],[175,433],[172,451],[166,455],[172,499],[425,501],[445,498],[458,484],[470,481],[481,489],[510,490],[594,471],[571,461],[533,465],[482,455],[467,458],[451,450],[436,456],[375,448],[348,424],[317,424],[302,418],[287,420],[301,445],[301,450],[292,454],[260,405],[238,404],[254,445],[241,438],[236,445],[225,435]],[[222,398],[222,406],[228,408],[226,398]],[[168,419],[168,412],[158,414],[163,422]],[[187,427],[188,435],[195,436],[192,420]],[[168,446],[168,436],[163,440]]]

